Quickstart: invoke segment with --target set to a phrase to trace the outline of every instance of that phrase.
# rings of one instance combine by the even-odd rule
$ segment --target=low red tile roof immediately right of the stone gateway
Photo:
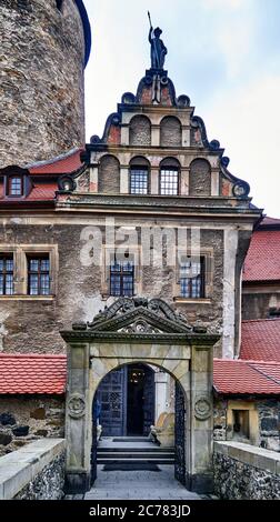
[[[214,359],[213,384],[230,395],[280,395],[280,363]]]

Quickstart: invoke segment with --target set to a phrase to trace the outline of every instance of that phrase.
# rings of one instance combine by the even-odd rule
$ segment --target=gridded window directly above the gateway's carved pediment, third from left
[[[113,258],[110,265],[110,295],[130,298],[133,293],[133,262]]]

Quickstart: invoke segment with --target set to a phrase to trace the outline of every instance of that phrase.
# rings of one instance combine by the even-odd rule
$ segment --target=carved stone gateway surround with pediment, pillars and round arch
[[[91,486],[92,401],[102,379],[124,364],[153,364],[183,390],[183,474],[190,491],[212,491],[212,348],[219,335],[192,328],[164,301],[120,298],[91,324],[61,332],[68,343],[67,486]]]

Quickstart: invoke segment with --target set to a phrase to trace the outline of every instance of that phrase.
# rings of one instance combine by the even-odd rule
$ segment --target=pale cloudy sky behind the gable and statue
[[[162,29],[164,68],[218,139],[253,203],[280,218],[280,1],[83,0],[92,28],[86,69],[87,141],[102,135],[123,92],[150,68],[148,42]]]

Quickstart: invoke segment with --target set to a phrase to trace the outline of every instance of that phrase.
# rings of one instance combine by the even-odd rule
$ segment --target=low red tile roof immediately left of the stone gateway
[[[63,394],[66,355],[0,353],[1,394]]]

